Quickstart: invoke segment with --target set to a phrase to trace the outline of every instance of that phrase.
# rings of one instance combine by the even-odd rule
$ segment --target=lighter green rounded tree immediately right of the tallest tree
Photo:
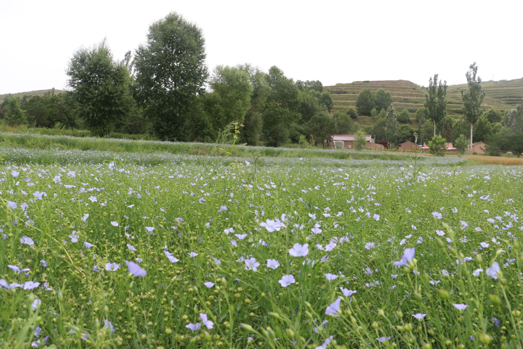
[[[206,108],[215,129],[224,129],[233,121],[242,125],[251,107],[253,86],[249,74],[238,67],[218,65],[214,69],[206,95]]]

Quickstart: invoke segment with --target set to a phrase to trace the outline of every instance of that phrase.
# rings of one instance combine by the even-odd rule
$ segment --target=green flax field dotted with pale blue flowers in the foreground
[[[17,150],[26,157],[0,165],[2,348],[523,346],[523,167],[1,157]],[[42,152],[56,162],[38,164]],[[396,268],[406,249],[414,257]]]

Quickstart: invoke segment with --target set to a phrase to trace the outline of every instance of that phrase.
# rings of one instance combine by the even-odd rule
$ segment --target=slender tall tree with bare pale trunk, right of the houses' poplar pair
[[[463,117],[470,122],[470,154],[472,155],[472,136],[474,125],[483,114],[481,104],[485,98],[485,91],[481,87],[481,77],[477,76],[476,62],[469,66],[469,71],[465,73],[467,77],[468,89],[461,89],[461,99],[463,99]]]

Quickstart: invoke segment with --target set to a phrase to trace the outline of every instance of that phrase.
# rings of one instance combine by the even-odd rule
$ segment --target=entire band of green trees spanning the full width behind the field
[[[170,13],[154,22],[145,43],[122,60],[113,57],[105,40],[79,48],[67,65],[66,93],[7,96],[0,119],[12,126],[87,129],[100,137],[116,131],[171,141],[235,139],[274,147],[319,144],[331,134],[358,130],[392,146],[461,137],[470,144],[487,142],[492,153],[517,153],[521,143],[520,105],[508,112],[486,111],[475,63],[465,74],[463,118],[447,115],[447,82],[436,74],[429,78],[424,107],[415,112],[414,129],[410,112],[394,109],[391,93],[382,88],[363,89],[356,108],[334,110],[331,91],[320,81],[293,81],[277,66],[265,72],[249,64],[219,65],[209,72],[205,59],[201,29]],[[377,120],[360,128],[359,115]]]

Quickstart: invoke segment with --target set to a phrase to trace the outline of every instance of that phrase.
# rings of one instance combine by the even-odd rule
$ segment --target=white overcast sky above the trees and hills
[[[277,65],[324,86],[360,80],[428,85],[523,77],[523,1],[9,1],[0,7],[0,94],[66,87],[80,46],[107,38],[115,59],[175,11],[206,39],[207,64]]]

